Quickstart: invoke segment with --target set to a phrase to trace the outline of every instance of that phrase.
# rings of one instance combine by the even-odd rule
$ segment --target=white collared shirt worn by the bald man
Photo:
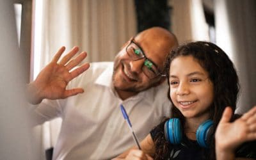
[[[91,63],[68,88],[84,88],[84,93],[64,100],[43,100],[35,109],[38,123],[62,118],[53,159],[111,159],[136,145],[126,124],[123,104],[138,140],[170,115],[166,82],[129,99],[118,97],[111,82],[112,62]]]

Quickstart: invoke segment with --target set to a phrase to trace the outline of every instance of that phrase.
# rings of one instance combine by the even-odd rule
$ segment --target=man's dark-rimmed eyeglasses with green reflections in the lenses
[[[157,76],[160,76],[160,72],[157,69],[157,66],[154,64],[153,61],[148,60],[148,58],[145,56],[143,53],[140,45],[136,44],[134,42],[134,39],[132,38],[131,42],[129,45],[126,47],[126,52],[128,56],[133,60],[141,60],[145,58],[144,65],[142,67],[143,73],[149,78],[149,79],[154,79]]]

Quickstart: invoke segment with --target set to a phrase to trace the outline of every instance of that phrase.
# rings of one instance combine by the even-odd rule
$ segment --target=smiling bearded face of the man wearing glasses
[[[161,79],[159,73],[156,73],[156,77],[150,77],[148,72],[151,72],[152,69],[156,70],[156,68],[159,72],[163,70],[164,58],[167,51],[159,49],[161,47],[157,47],[153,42],[153,40],[143,40],[139,36],[134,39],[135,45],[130,41],[130,43],[127,43],[118,52],[114,61],[113,72],[113,84],[117,92],[122,91],[136,94],[159,83]],[[136,46],[136,44],[138,44],[137,46],[139,48],[131,47]],[[132,51],[129,49],[132,49]],[[141,58],[139,60],[132,59],[131,52],[139,54],[140,50],[147,58]]]

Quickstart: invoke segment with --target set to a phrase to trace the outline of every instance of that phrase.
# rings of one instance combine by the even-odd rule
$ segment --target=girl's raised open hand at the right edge
[[[227,107],[215,133],[216,154],[218,152],[234,154],[242,143],[256,140],[256,106],[232,123],[229,122],[231,116],[232,109]]]

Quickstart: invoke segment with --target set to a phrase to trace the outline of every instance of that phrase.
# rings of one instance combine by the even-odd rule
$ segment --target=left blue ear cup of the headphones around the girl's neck
[[[164,124],[164,136],[166,141],[179,144],[182,140],[182,131],[179,118],[171,118]]]

